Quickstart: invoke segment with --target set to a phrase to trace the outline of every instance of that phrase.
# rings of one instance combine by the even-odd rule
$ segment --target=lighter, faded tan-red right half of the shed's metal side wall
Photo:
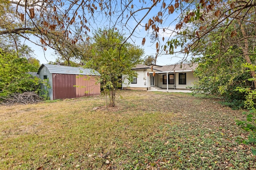
[[[96,83],[95,76],[76,75],[76,97],[99,95],[100,83]]]

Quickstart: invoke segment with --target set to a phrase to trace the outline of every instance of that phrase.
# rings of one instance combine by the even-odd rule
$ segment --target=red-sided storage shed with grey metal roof
[[[48,82],[42,88],[48,90],[51,100],[71,99],[100,94],[100,73],[94,69],[42,64],[38,69],[39,78]]]

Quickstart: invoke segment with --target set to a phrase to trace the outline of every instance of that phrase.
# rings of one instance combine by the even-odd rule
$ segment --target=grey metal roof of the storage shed
[[[52,64],[42,64],[38,69],[38,74],[43,67],[47,67],[50,73],[57,74],[77,74],[77,75],[100,75],[100,73],[94,69],[85,69],[83,67],[70,67],[64,65],[52,65]]]

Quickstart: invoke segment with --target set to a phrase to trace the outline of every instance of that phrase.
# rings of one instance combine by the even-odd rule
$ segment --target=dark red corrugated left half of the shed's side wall
[[[52,74],[53,100],[76,97],[76,75]]]

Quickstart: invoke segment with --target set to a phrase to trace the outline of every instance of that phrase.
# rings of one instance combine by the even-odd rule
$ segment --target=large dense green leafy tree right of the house
[[[187,14],[190,11],[188,9]],[[245,20],[244,23],[241,23],[238,18],[235,18],[232,22],[224,20],[218,25],[218,28],[214,28],[207,35],[200,37],[200,40],[198,40],[198,36],[191,37],[191,35],[197,34],[198,28],[206,28],[208,23],[214,23],[218,19],[217,14],[213,15],[212,18],[212,12],[209,11],[207,15],[204,15],[204,21],[196,20],[183,25],[182,31],[176,36],[179,40],[177,44],[184,45],[186,42],[190,42],[190,39],[197,41],[196,44],[190,45],[189,51],[192,55],[197,56],[192,58],[192,62],[199,63],[195,71],[200,78],[195,87],[197,91],[220,95],[232,105],[236,105],[233,105],[233,107],[237,107],[237,105],[241,107],[246,94],[238,94],[234,90],[238,87],[255,89],[255,83],[253,85],[251,80],[248,81],[248,79],[254,77],[254,70],[244,67],[246,63],[254,63],[256,59],[254,24]],[[254,14],[246,18],[247,20],[248,18],[253,20]],[[251,71],[251,75],[248,71]]]

